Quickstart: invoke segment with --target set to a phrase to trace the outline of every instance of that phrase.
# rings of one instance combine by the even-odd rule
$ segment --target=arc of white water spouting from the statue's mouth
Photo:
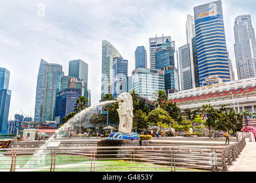
[[[113,102],[117,101],[104,101],[104,102],[99,102],[93,106],[90,106],[89,108],[86,108],[82,110],[81,112],[77,113],[75,116],[73,116],[70,120],[68,120],[64,125],[62,125],[59,129],[56,130],[56,132],[49,138],[48,141],[45,142],[44,145],[38,149],[31,159],[27,161],[26,165],[23,168],[32,168],[34,164],[36,165],[45,165],[45,156],[47,154],[50,154],[50,150],[45,150],[48,142],[54,141],[57,137],[60,137],[61,134],[66,132],[66,129],[68,131],[74,131],[76,132],[76,127],[77,125],[80,124],[80,121],[82,121],[84,118],[89,117],[90,114],[93,113],[94,109],[97,109],[99,106],[104,106],[111,104]],[[26,169],[24,170],[19,170],[19,171],[27,171]]]

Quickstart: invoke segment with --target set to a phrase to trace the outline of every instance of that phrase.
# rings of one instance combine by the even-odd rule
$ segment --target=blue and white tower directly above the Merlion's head
[[[113,58],[113,88],[112,95],[117,98],[121,94],[121,81],[128,76],[128,60],[122,57]]]

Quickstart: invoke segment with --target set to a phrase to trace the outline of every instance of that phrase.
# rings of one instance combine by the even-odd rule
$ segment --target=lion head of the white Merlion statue
[[[119,109],[123,111],[123,114],[129,113],[131,116],[133,116],[132,110],[132,96],[129,93],[121,93],[117,97],[117,101],[119,101]],[[128,112],[129,111],[129,112]]]

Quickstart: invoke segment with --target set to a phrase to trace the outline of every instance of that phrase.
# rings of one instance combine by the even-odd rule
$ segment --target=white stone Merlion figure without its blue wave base
[[[121,93],[117,97],[117,101],[119,101],[119,109],[117,109],[117,112],[119,114],[118,132],[129,134],[132,132],[132,96],[129,93]]]

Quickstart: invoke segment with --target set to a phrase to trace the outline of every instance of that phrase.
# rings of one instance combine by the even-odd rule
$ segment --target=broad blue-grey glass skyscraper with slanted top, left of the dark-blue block
[[[60,92],[62,65],[41,59],[37,77],[34,121],[54,121],[56,94]]]

